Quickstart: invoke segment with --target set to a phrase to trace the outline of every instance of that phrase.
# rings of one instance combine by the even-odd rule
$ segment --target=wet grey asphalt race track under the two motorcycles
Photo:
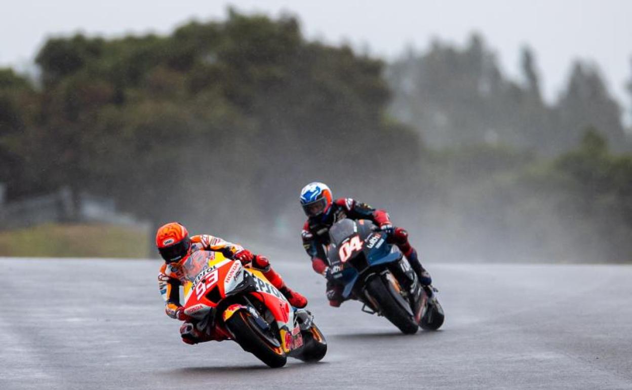
[[[427,264],[446,323],[405,336],[329,307],[305,259],[274,265],[310,300],[320,363],[182,343],[158,260],[0,259],[0,389],[632,389],[632,266]]]

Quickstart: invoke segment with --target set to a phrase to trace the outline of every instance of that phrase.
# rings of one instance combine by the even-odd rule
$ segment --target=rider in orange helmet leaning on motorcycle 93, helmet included
[[[158,286],[165,300],[165,312],[173,319],[185,321],[180,327],[180,335],[182,341],[187,344],[197,344],[214,339],[221,340],[229,336],[223,334],[218,328],[204,329],[202,324],[194,322],[185,314],[184,308],[180,304],[179,288],[187,281],[183,264],[191,253],[197,250],[221,252],[227,259],[240,260],[243,265],[250,264],[253,268],[261,271],[270,281],[270,284],[288,298],[292,306],[302,308],[307,305],[305,296],[292,291],[285,285],[281,275],[272,269],[267,257],[253,255],[241,245],[229,243],[211,235],[189,236],[185,226],[178,222],[169,222],[158,229],[156,246],[162,259],[164,259],[164,264],[162,264],[158,275]]]

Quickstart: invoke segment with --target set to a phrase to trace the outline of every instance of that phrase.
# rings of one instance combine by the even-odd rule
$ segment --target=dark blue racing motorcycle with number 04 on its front
[[[437,289],[422,286],[408,260],[373,222],[343,219],[329,229],[329,278],[344,286],[343,298],[363,303],[362,311],[383,315],[405,334],[436,330],[445,315]]]

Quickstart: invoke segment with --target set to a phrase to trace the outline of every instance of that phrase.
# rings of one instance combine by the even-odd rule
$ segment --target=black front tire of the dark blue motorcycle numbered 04
[[[392,296],[391,291],[389,291],[389,288],[384,283],[390,282],[384,281],[381,277],[376,276],[368,281],[365,288],[369,295],[377,302],[382,311],[382,315],[384,315],[387,320],[398,327],[402,333],[415,334],[419,329],[419,325],[415,322],[415,319],[408,314],[408,311],[399,305],[399,302]]]

